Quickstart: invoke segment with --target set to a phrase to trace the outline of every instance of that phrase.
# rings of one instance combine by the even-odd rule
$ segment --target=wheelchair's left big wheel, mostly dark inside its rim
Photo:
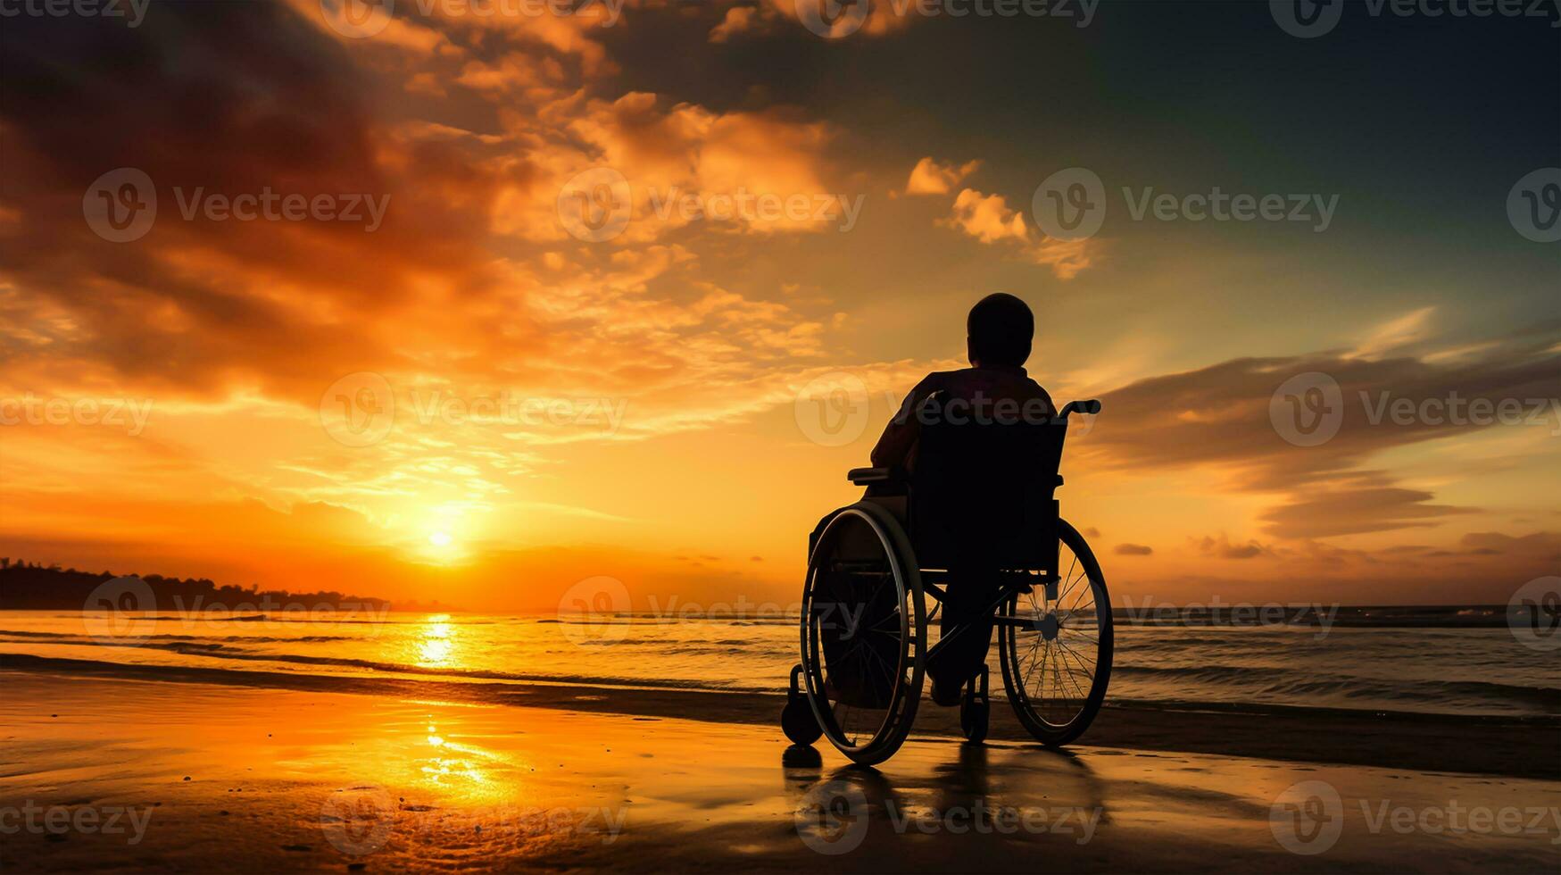
[[[926,597],[904,528],[884,508],[840,509],[802,591],[802,681],[829,742],[863,766],[899,750],[921,702]]]

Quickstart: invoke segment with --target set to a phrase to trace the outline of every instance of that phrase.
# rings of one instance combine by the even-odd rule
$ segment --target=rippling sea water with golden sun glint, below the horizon
[[[1119,622],[1107,702],[1561,716],[1556,653],[1525,647],[1499,612],[1481,622],[1478,611],[1425,609],[1427,625],[1406,625],[1414,614],[1402,608],[1375,620],[1353,611],[1332,628]],[[1463,622],[1449,625],[1447,617]],[[105,664],[94,670],[133,667],[137,677],[195,666],[777,692],[798,647],[795,619],[0,611],[0,655],[76,661],[30,662],[39,670],[81,670],[80,661],[89,661]]]

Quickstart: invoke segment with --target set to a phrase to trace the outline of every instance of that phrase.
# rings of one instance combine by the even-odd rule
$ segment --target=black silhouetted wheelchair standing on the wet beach
[[[933,402],[937,397],[933,398]],[[983,577],[997,662],[1019,723],[1047,747],[1090,727],[1111,677],[1111,603],[1094,553],[1054,491],[1072,402],[1046,422],[923,420],[913,475],[855,469],[866,495],[809,539],[801,662],[780,725],[798,745],[827,736],[871,766],[910,734],[927,664],[969,623],[930,638],[952,578]],[[927,597],[933,609],[927,611]],[[990,653],[990,647],[988,647]],[[962,688],[960,727],[987,736],[988,667]]]

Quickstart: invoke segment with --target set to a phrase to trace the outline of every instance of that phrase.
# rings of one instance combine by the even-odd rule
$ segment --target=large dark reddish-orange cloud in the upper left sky
[[[484,211],[450,194],[487,181],[450,145],[395,142],[365,105],[359,69],[293,9],[159,3],[139,28],[59,25],[23,16],[0,28],[0,209],[14,219],[0,225],[0,280],[19,289],[5,303],[58,312],[52,323],[20,317],[47,342],[9,339],[12,373],[308,397],[322,373],[396,358],[372,316],[411,300],[409,275],[459,294],[481,264],[471,241]],[[120,167],[145,172],[158,192],[151,231],[126,244],[83,219],[87,188]],[[389,203],[373,233],[315,219],[184,220],[180,194],[189,203],[197,189]]]

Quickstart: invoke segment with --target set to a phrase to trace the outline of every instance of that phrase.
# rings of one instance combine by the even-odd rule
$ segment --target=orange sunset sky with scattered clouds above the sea
[[[846,469],[1007,291],[1030,373],[1105,405],[1060,497],[1115,595],[1505,603],[1561,573],[1561,244],[1508,214],[1561,166],[1549,20],[880,5],[826,39],[791,0],[395,6],[362,36],[336,0],[0,23],[0,555],[470,609],[595,575],[635,609],[790,603]],[[1047,238],[1032,195],[1071,167],[1105,220]],[[130,242],[89,220],[117,169],[158,198]],[[599,169],[632,197],[609,239],[560,206]],[[1336,202],[1325,230],[1132,214],[1216,186]],[[264,192],[382,220],[184,216]],[[1308,372],[1346,408],[1314,447],[1271,420]],[[869,414],[824,445],[841,373]],[[381,388],[387,431],[343,431]],[[1538,412],[1372,423],[1361,392]],[[98,414],[27,414],[48,400]],[[144,423],[100,416],[123,400]]]

